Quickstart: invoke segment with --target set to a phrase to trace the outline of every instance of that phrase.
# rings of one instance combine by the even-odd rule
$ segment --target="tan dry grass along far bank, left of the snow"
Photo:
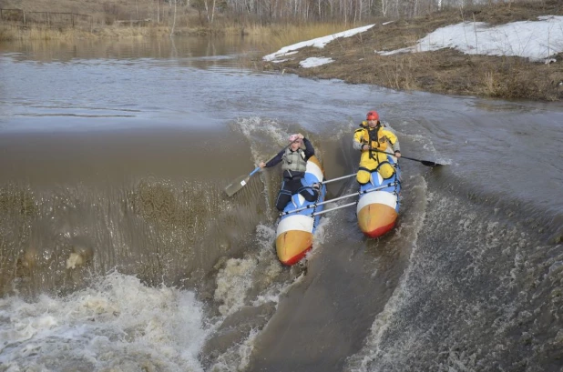
[[[101,0],[0,0],[0,7],[23,9],[26,12],[26,25],[23,17],[15,13],[17,20],[4,22],[0,29],[0,40],[13,39],[67,39],[71,37],[156,37],[162,35],[252,35],[261,36],[264,50],[271,47],[282,47],[287,43],[310,39],[322,35],[333,34],[345,30],[339,23],[325,24],[272,24],[264,25],[259,20],[241,20],[227,15],[217,14],[210,24],[205,15],[199,15],[194,9],[182,7],[177,9],[175,22],[173,8],[169,5],[160,6],[159,22],[153,2],[135,3],[116,0],[112,3]],[[148,6],[150,5],[150,6]],[[70,12],[81,15],[92,15],[92,18],[80,18],[80,25],[73,27],[70,17],[59,16],[60,22],[52,31],[46,24],[38,23],[46,20],[45,14],[32,17],[29,12],[50,12],[50,18],[56,18],[56,12]],[[138,17],[138,18],[137,18]],[[77,18],[78,19],[78,18]],[[83,19],[87,21],[84,22]],[[138,20],[137,20],[138,19]],[[91,21],[91,22],[90,22]],[[172,29],[172,25],[174,25]]]

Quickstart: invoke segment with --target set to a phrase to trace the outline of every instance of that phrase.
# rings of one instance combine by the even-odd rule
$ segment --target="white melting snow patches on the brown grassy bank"
[[[384,25],[389,24],[385,23]],[[374,25],[353,28],[338,34],[318,37],[285,46],[263,57],[264,61],[282,62],[279,57],[295,55],[305,46],[324,47],[338,37],[349,37],[372,28]],[[374,51],[379,55],[435,51],[455,48],[468,55],[515,55],[532,61],[554,61],[549,56],[563,52],[563,16],[543,15],[537,21],[519,21],[506,25],[489,26],[483,22],[464,22],[438,28],[418,40],[416,45],[392,51]],[[284,60],[285,61],[285,60]],[[333,62],[332,58],[307,58],[300,62],[303,68]]]

